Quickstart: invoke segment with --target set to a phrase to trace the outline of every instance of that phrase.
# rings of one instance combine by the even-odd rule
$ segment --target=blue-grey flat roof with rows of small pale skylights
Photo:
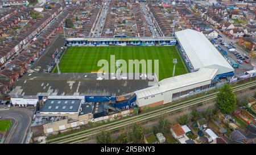
[[[40,112],[78,112],[81,99],[47,99]]]

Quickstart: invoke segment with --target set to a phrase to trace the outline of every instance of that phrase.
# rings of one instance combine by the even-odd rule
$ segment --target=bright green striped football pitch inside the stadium
[[[95,73],[102,68],[97,66],[99,60],[107,60],[110,64],[110,55],[114,55],[115,60],[126,60],[127,70],[129,70],[128,60],[152,60],[153,71],[154,60],[159,60],[159,80],[172,76],[173,58],[177,58],[175,76],[187,73],[187,68],[174,46],[68,47],[60,59],[60,72]],[[53,72],[56,73],[57,69],[55,68]]]

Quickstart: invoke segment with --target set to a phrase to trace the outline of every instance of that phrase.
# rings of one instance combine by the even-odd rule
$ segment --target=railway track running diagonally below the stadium
[[[248,88],[254,87],[254,86],[256,86],[255,80],[251,81],[251,82],[244,83],[242,85],[234,86],[233,91],[241,91],[241,90],[245,90],[245,89],[248,89]],[[146,113],[143,113],[138,116],[132,116],[130,118],[117,120],[115,122],[112,122],[109,124],[104,124],[104,125],[101,125],[96,128],[86,129],[84,131],[72,133],[70,135],[57,137],[55,139],[50,139],[50,140],[48,140],[48,143],[58,143],[58,144],[79,143],[81,141],[87,140],[88,137],[90,137],[90,136],[94,136],[94,135],[100,133],[102,129],[104,129],[104,131],[115,131],[115,130],[127,127],[129,125],[132,125],[134,123],[146,122],[148,120],[159,118],[160,116],[163,116],[166,114],[171,114],[173,112],[181,111],[188,107],[199,106],[207,100],[215,99],[216,94],[217,94],[217,92],[208,94],[208,95],[204,95],[203,97],[186,100],[184,102],[170,104],[170,106],[166,106],[166,107],[154,110],[154,111],[146,112]]]

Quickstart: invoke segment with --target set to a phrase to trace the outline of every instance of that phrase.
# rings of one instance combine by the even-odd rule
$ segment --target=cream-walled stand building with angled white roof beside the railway
[[[158,85],[135,91],[139,107],[154,107],[208,90],[218,69],[200,68],[197,72],[163,79]]]

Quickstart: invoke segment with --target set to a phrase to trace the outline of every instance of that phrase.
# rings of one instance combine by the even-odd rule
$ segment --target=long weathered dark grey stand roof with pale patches
[[[97,73],[27,73],[11,91],[12,98],[38,96],[118,96],[152,86],[148,79],[97,79]],[[157,81],[153,82],[157,83]]]

